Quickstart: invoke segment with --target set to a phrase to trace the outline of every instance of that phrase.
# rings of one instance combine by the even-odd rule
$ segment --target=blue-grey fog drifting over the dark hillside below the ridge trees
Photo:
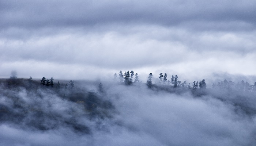
[[[76,82],[0,92],[0,145],[242,146],[255,143],[255,92]]]

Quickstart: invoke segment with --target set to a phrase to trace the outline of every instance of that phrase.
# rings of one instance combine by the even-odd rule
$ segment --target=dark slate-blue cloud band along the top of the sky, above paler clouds
[[[1,29],[108,23],[177,26],[191,22],[244,22],[254,26],[255,5],[254,1],[1,1],[0,26]]]

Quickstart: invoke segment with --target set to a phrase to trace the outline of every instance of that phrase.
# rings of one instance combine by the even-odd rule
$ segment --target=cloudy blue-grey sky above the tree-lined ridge
[[[0,77],[256,81],[253,0],[0,0]],[[253,81],[254,82],[254,81]]]

